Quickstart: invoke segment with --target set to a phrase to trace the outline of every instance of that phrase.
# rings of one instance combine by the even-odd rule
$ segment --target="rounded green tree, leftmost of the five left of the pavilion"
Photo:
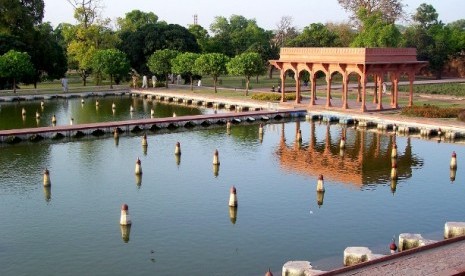
[[[127,76],[130,66],[126,54],[117,49],[98,50],[92,59],[92,69],[110,77],[110,88],[113,89],[113,79]]]

